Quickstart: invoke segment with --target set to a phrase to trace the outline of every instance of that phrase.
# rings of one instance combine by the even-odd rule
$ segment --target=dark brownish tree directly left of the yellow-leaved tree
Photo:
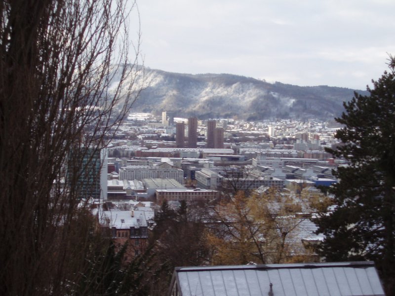
[[[170,285],[176,266],[196,266],[208,262],[209,248],[205,240],[205,226],[195,204],[180,202],[180,207],[171,209],[163,201],[156,215],[156,226],[151,236],[152,253],[156,266],[151,280],[155,282],[150,295],[163,295]]]

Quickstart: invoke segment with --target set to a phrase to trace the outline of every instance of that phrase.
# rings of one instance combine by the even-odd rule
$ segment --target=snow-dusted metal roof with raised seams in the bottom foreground
[[[180,296],[384,296],[371,261],[177,267],[175,284]]]

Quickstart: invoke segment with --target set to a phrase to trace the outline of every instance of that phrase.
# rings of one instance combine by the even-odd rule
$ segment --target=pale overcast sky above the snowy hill
[[[139,0],[144,64],[365,89],[395,55],[395,0]]]

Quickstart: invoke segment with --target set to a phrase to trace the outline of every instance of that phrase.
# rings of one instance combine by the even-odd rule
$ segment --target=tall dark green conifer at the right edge
[[[315,222],[326,235],[318,248],[327,261],[374,260],[387,295],[395,295],[395,59],[370,93],[344,103],[335,137],[327,149],[349,164],[339,167],[339,183],[329,192],[335,209]]]

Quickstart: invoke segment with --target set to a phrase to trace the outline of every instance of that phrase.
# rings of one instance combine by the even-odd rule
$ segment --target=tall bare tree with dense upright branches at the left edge
[[[0,2],[1,295],[75,294],[94,229],[80,176],[141,89],[140,36],[133,46],[127,35],[133,8]]]

